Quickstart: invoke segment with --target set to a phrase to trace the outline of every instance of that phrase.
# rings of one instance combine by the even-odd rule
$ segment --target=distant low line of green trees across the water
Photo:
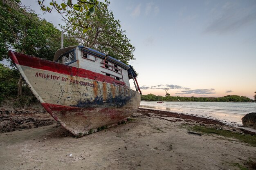
[[[153,94],[141,95],[141,101],[167,101],[167,102],[252,102],[246,96],[227,95],[223,97],[179,97],[179,96],[156,96]]]

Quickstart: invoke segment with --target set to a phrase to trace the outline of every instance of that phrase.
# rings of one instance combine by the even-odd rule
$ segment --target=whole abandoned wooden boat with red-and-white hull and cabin
[[[116,125],[139,108],[132,67],[93,49],[59,49],[54,61],[13,51],[9,57],[45,110],[77,137]]]

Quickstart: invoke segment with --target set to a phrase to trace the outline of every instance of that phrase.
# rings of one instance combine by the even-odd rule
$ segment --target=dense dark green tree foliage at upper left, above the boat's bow
[[[53,24],[40,19],[34,11],[22,6],[19,0],[0,2],[0,60],[8,58],[12,48],[18,52],[52,60],[57,49],[61,48],[61,31]],[[65,37],[64,45],[78,43]]]

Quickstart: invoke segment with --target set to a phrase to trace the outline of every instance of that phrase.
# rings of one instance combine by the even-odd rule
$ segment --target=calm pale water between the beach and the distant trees
[[[198,117],[216,119],[225,124],[239,127],[242,117],[256,112],[256,103],[223,103],[223,102],[141,102],[140,108],[184,113]]]

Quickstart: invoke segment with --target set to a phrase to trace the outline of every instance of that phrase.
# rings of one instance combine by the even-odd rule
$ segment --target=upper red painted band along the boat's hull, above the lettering
[[[45,60],[42,58],[13,52],[11,50],[9,51],[8,55],[15,64],[19,64],[22,66],[29,66],[32,68],[52,71],[52,72],[61,73],[61,74],[65,74],[65,75],[79,76],[79,77],[88,78],[88,79],[95,79],[97,81],[107,82],[110,84],[114,83],[116,85],[121,85],[121,86],[126,85],[124,82],[118,81],[112,77],[102,75],[100,73],[94,73],[92,71],[85,70],[83,68],[67,66],[64,64],[57,63],[57,62]]]

